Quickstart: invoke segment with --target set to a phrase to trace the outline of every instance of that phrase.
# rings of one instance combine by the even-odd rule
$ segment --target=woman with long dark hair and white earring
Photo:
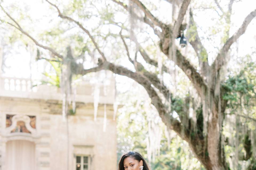
[[[123,154],[118,167],[118,170],[150,170],[141,154],[134,151]]]

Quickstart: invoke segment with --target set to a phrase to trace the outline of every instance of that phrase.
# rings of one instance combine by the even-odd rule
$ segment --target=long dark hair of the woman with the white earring
[[[121,157],[121,159],[119,160],[119,163],[118,163],[118,170],[125,170],[125,168],[123,167],[123,161],[125,160],[125,158],[127,157],[130,157],[130,158],[133,158],[137,161],[143,161],[143,170],[150,170],[149,169],[149,166],[147,165],[145,159],[141,156],[141,154],[139,154],[138,152],[134,152],[134,151],[130,151],[130,152],[127,152],[127,153],[124,153]]]

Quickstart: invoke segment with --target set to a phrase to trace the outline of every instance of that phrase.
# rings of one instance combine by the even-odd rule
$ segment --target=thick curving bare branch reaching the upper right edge
[[[249,15],[246,16],[244,19],[241,27],[227,40],[227,42],[224,44],[220,52],[218,53],[216,59],[214,60],[213,64],[211,65],[213,69],[213,75],[221,69],[223,65],[227,63],[225,60],[226,54],[228,50],[230,49],[230,46],[241,36],[243,33],[245,33],[245,30],[251,20],[256,16],[256,9],[252,11]]]

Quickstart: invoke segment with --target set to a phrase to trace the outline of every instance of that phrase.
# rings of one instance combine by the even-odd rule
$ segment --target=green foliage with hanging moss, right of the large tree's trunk
[[[223,134],[227,139],[225,141],[227,144],[225,146],[226,159],[238,161],[235,160],[238,150],[240,159],[246,160],[247,165],[255,159],[252,154],[252,148],[255,146],[252,145],[251,137],[253,136],[250,134],[254,131],[254,120],[256,120],[256,64],[251,61],[251,56],[243,57],[240,63],[238,62],[241,67],[239,72],[230,74],[226,82],[222,84],[224,91],[222,97],[227,100],[225,112],[231,114],[228,115],[223,126]],[[232,124],[233,128],[231,128]],[[238,161],[236,164],[238,169],[246,167],[245,161]]]

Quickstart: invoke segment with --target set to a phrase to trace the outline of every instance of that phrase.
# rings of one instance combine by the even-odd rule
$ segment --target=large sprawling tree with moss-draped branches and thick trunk
[[[230,60],[231,55],[229,51],[231,45],[245,33],[247,26],[256,16],[256,9],[251,11],[244,18],[243,23],[237,31],[233,35],[230,35],[232,6],[236,1],[229,0],[227,8],[221,6],[222,4],[217,0],[213,1],[215,3],[215,10],[220,20],[223,21],[223,27],[225,28],[223,29],[222,46],[216,53],[214,61],[209,65],[208,53],[202,43],[201,36],[199,36],[198,26],[193,16],[193,8],[189,7],[190,0],[165,1],[172,6],[172,15],[169,15],[167,12],[165,13],[165,15],[169,15],[166,18],[172,17],[172,22],[167,22],[164,19],[161,20],[161,18],[156,17],[153,14],[157,13],[157,10],[154,9],[155,6],[146,1],[145,3],[140,0],[129,0],[125,2],[119,0],[72,1],[70,3],[63,2],[63,4],[67,4],[67,7],[65,7],[62,3],[46,0],[43,3],[43,7],[46,4],[52,7],[51,9],[55,10],[58,13],[58,17],[61,18],[60,22],[66,25],[68,24],[67,27],[70,29],[74,27],[80,29],[73,31],[73,34],[77,32],[77,35],[79,35],[77,37],[73,36],[73,38],[76,38],[76,41],[80,40],[79,37],[88,38],[84,38],[76,44],[79,48],[82,47],[80,50],[81,55],[78,52],[71,53],[70,47],[67,48],[67,55],[64,54],[64,51],[60,48],[62,46],[61,44],[58,44],[57,41],[54,43],[51,42],[54,38],[50,41],[48,39],[47,41],[47,39],[35,37],[33,33],[26,31],[26,28],[23,28],[19,24],[20,21],[18,20],[21,20],[21,18],[15,19],[12,16],[11,11],[4,6],[5,1],[0,6],[2,11],[8,16],[7,19],[2,19],[5,23],[18,29],[38,47],[49,50],[52,55],[47,60],[61,62],[63,70],[70,69],[71,72],[68,72],[66,75],[69,77],[68,79],[70,79],[72,74],[85,75],[100,70],[110,70],[115,74],[135,80],[145,88],[151,98],[151,103],[157,109],[165,125],[189,143],[195,157],[206,169],[228,169],[224,153],[226,143],[224,143],[222,128],[225,119],[225,109],[229,100],[222,97],[226,93],[226,89],[222,88],[223,77],[225,77],[225,71],[223,70],[225,70],[227,62]],[[97,4],[101,4],[101,7],[98,8]],[[72,9],[68,8],[69,5]],[[162,11],[159,10],[158,12],[161,13]],[[125,19],[124,22],[116,22],[114,15],[130,16],[130,19],[128,19],[130,24],[127,24],[127,20]],[[54,17],[52,16],[53,20]],[[99,22],[104,25],[115,25],[121,31],[119,34],[115,34],[113,32],[105,33],[106,29],[110,29],[109,27],[92,29],[86,23],[91,18],[94,18],[96,20],[95,22],[97,22],[97,19],[104,21],[102,23]],[[186,18],[186,20],[183,18]],[[134,25],[137,25],[137,27]],[[159,46],[162,52],[152,53],[154,56],[150,55],[150,47],[146,48],[145,42],[138,37],[139,32],[149,32],[149,37],[153,36],[152,30],[154,36],[157,36],[159,41],[155,46]],[[194,50],[194,52],[189,51],[189,54],[184,53],[184,50],[177,46],[177,38],[181,37],[184,31],[186,31],[187,40]],[[64,35],[65,31],[59,30],[59,33],[63,33]],[[82,33],[85,36],[81,36]],[[55,33],[48,34],[47,36],[54,37]],[[106,46],[109,44],[104,43],[104,41],[110,42],[108,40],[109,37],[119,43],[122,42],[122,48],[126,52],[123,53],[123,50],[116,50],[114,53],[110,53],[109,50],[107,51]],[[127,45],[127,41],[129,41],[131,47]],[[150,39],[147,41],[150,41]],[[111,42],[115,44],[114,41]],[[131,50],[132,47],[133,50]],[[116,47],[113,46],[112,48],[114,51]],[[118,48],[121,49],[121,47]],[[96,56],[98,58],[97,66],[86,68],[81,62],[77,62],[78,59],[83,58],[85,52],[92,57]],[[133,68],[128,69],[125,66],[117,64],[115,61],[117,52],[119,52],[119,56],[126,55]],[[132,54],[134,54],[134,57]],[[197,67],[188,59],[189,55],[197,57]],[[159,62],[160,56],[162,56],[160,59],[161,62]],[[139,60],[139,57],[143,58],[143,61]],[[195,97],[196,95],[187,95],[185,98],[182,98],[173,94],[173,91],[169,88],[171,82],[168,83],[163,80],[163,74],[172,74],[171,70],[173,68],[170,68],[169,61],[173,61],[184,72],[193,85],[198,97]],[[119,63],[122,62],[119,61]],[[159,70],[152,69],[154,67],[159,68]],[[196,103],[195,100],[198,102],[194,106],[194,110],[197,110],[196,113],[198,114],[192,118],[189,116],[189,103],[193,103],[191,100],[194,100],[194,103]],[[178,118],[173,116],[175,112],[178,114]]]

